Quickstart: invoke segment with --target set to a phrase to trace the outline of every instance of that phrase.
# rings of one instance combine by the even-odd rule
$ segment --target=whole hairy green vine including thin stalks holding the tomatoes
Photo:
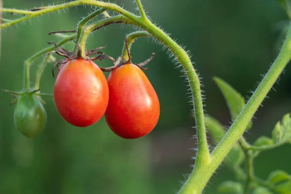
[[[122,7],[114,4],[108,3],[98,0],[75,0],[68,3],[55,5],[55,6],[45,6],[40,8],[34,8],[31,10],[17,10],[17,9],[7,9],[1,8],[1,12],[5,13],[13,13],[13,14],[21,14],[25,15],[15,20],[6,20],[2,19],[0,24],[0,29],[15,25],[20,22],[24,22],[33,17],[45,15],[54,11],[66,9],[73,6],[79,5],[90,5],[94,7],[98,7],[99,9],[89,16],[85,17],[78,24],[77,32],[73,32],[75,34],[70,36],[65,36],[63,41],[61,41],[58,46],[65,44],[66,42],[74,39],[76,41],[75,47],[75,56],[81,57],[83,59],[87,59],[85,45],[87,41],[87,37],[90,33],[98,30],[99,28],[110,25],[110,24],[130,24],[137,26],[143,30],[143,32],[133,32],[127,36],[128,42],[125,47],[130,45],[134,41],[134,39],[138,37],[151,37],[157,39],[163,46],[169,49],[175,60],[177,60],[183,67],[184,73],[187,76],[187,81],[189,81],[189,85],[192,91],[193,96],[193,105],[194,105],[194,117],[196,122],[196,130],[197,130],[197,141],[198,148],[196,154],[196,160],[194,169],[185,182],[185,184],[180,189],[180,194],[200,194],[203,192],[207,182],[209,181],[212,174],[218,168],[218,166],[223,162],[226,155],[232,149],[232,147],[237,143],[237,141],[241,138],[244,130],[247,128],[249,122],[251,121],[253,115],[256,113],[259,105],[266,97],[273,84],[282,73],[285,66],[291,59],[291,28],[288,31],[286,40],[282,46],[282,49],[276,58],[273,65],[270,67],[268,73],[264,76],[263,80],[260,82],[256,91],[253,93],[252,97],[248,100],[247,104],[243,107],[241,113],[236,117],[230,129],[226,132],[225,136],[219,142],[219,144],[214,148],[214,150],[210,153],[208,144],[207,144],[207,135],[206,135],[206,126],[205,126],[205,115],[203,111],[203,102],[202,95],[200,89],[200,79],[194,69],[193,63],[189,57],[189,53],[184,50],[182,47],[178,45],[170,36],[162,31],[161,28],[157,27],[152,21],[147,17],[145,10],[143,9],[142,3],[140,0],[135,0],[137,7],[140,11],[140,16],[136,16],[129,11],[123,9]],[[105,11],[112,10],[118,13],[117,16],[109,16]],[[98,16],[99,14],[105,12],[105,19],[99,20],[93,24],[87,25],[87,22]],[[52,32],[53,33],[53,32]],[[52,34],[51,33],[51,34]],[[79,46],[80,45],[80,46]],[[25,63],[25,87],[24,91],[20,93],[16,93],[13,91],[7,91],[15,95],[23,95],[27,93],[34,92],[35,95],[41,96],[42,93],[37,93],[38,91],[31,91],[30,88],[30,76],[29,76],[29,67],[33,60],[36,58],[45,55],[46,53],[54,50],[55,47],[48,47],[40,51],[39,53],[33,55],[30,59],[28,59]],[[128,58],[128,50],[123,49],[122,51],[122,62],[129,60]],[[39,86],[40,75],[42,73],[42,69],[39,71],[38,81],[36,86]],[[36,88],[35,88],[36,89]],[[44,94],[43,94],[44,95]],[[251,147],[252,149],[256,149],[255,146]],[[267,148],[266,148],[267,149]],[[251,173],[250,173],[251,174]],[[246,187],[248,187],[246,185]]]

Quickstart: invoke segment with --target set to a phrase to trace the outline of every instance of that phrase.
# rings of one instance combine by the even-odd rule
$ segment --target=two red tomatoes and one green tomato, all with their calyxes
[[[53,99],[58,113],[71,125],[88,127],[97,123],[103,115],[112,131],[125,139],[140,138],[151,132],[158,123],[160,103],[158,96],[142,71],[154,57],[141,64],[132,64],[126,39],[128,60],[121,62],[98,51],[100,47],[86,50],[85,57],[78,53],[59,48],[54,42],[55,52],[65,59],[57,61],[59,73],[53,88]],[[89,58],[88,56],[95,55]],[[115,62],[113,67],[102,68],[93,61],[109,59]],[[103,71],[111,71],[106,80]],[[38,85],[36,84],[35,88]],[[34,138],[45,128],[47,113],[40,89],[32,90],[26,85],[22,92],[4,90],[16,99],[16,128],[28,138]]]

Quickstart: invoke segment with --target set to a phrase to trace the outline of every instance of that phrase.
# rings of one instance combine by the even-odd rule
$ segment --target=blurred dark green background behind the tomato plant
[[[136,12],[133,0],[117,4]],[[4,7],[30,9],[53,0],[4,0]],[[230,115],[219,89],[212,81],[218,76],[243,96],[260,81],[274,61],[280,33],[288,17],[275,0],[142,0],[146,12],[171,37],[192,53],[195,68],[203,78],[206,113],[229,126]],[[59,1],[61,3],[61,1]],[[34,18],[1,31],[0,88],[21,90],[23,64],[33,53],[58,41],[50,31],[74,30],[91,7],[80,6]],[[5,14],[4,18],[19,16]],[[107,45],[103,51],[117,58],[125,34],[134,29],[111,25],[91,35],[87,48]],[[73,43],[66,45],[71,49]],[[161,103],[157,127],[146,137],[124,140],[108,128],[103,118],[89,128],[66,123],[57,113],[53,99],[46,97],[48,124],[35,139],[28,139],[14,125],[12,97],[0,93],[0,194],[174,194],[180,180],[191,172],[196,147],[192,106],[187,102],[187,82],[166,51],[152,40],[140,39],[132,47],[133,62],[156,53],[146,75]],[[59,58],[59,57],[58,57]],[[32,65],[32,81],[42,59]],[[99,65],[99,62],[97,63]],[[41,81],[43,92],[52,93],[51,64]],[[102,62],[101,66],[109,66]],[[106,76],[108,73],[106,73]],[[275,123],[291,108],[291,66],[288,66],[270,99],[259,108],[253,129],[245,134],[249,142],[271,135]],[[215,146],[211,143],[212,146]],[[267,178],[275,169],[291,174],[290,146],[265,152],[255,161],[255,172]],[[217,185],[233,179],[221,166],[211,178],[205,194],[215,194]]]

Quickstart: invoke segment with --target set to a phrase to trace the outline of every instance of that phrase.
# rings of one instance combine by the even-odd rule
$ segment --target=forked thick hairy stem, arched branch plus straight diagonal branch
[[[28,19],[31,19],[36,16],[41,16],[53,11],[69,8],[77,5],[91,5],[96,6],[108,10],[113,10],[121,15],[123,15],[122,21],[124,23],[129,23],[136,25],[145,31],[149,32],[151,36],[159,40],[165,47],[167,47],[173,55],[177,58],[177,60],[183,66],[187,78],[190,83],[190,87],[193,95],[193,103],[194,103],[194,115],[196,121],[196,129],[197,129],[197,141],[198,141],[198,151],[196,155],[195,167],[193,169],[192,174],[189,176],[185,184],[180,189],[180,194],[200,194],[203,192],[207,182],[210,177],[217,169],[217,167],[223,162],[223,159],[226,157],[227,153],[234,146],[234,144],[239,140],[244,132],[244,129],[248,125],[254,113],[257,111],[260,103],[266,97],[269,90],[272,88],[278,76],[283,71],[284,67],[290,60],[290,52],[291,52],[291,29],[288,31],[287,38],[283,44],[283,47],[275,60],[274,64],[265,75],[264,79],[259,84],[257,90],[250,98],[248,103],[245,105],[244,109],[231,125],[230,129],[227,131],[224,138],[220,141],[220,143],[215,147],[212,151],[211,155],[209,152],[209,148],[207,145],[206,139],[206,129],[205,129],[205,121],[204,121],[204,113],[202,106],[202,97],[201,97],[201,89],[200,89],[200,81],[198,76],[194,70],[192,62],[187,54],[187,52],[182,49],[174,40],[172,40],[165,32],[163,32],[160,28],[155,26],[147,17],[143,10],[142,4],[140,0],[136,0],[138,8],[141,12],[141,16],[136,16],[120,6],[107,3],[103,1],[97,0],[76,0],[56,6],[48,6],[42,7],[39,9],[34,9],[33,11],[25,11],[25,10],[14,10],[14,9],[2,9],[2,12],[12,12],[17,14],[24,14],[26,16],[21,17],[16,20],[7,21],[0,25],[0,29],[11,26],[13,24],[17,24]],[[107,18],[109,19],[109,18]],[[102,22],[100,21],[99,24]],[[106,24],[106,23],[104,23]],[[86,27],[84,27],[83,32],[86,32]],[[82,33],[83,33],[82,32]],[[86,36],[85,34],[81,34],[80,42],[85,42],[86,38],[82,38]],[[84,46],[84,45],[83,45]]]

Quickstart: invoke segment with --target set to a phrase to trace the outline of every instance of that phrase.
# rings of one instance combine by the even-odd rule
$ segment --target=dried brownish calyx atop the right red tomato
[[[153,58],[155,57],[155,53],[153,52],[151,57],[148,58],[146,61],[142,62],[142,63],[139,63],[139,64],[134,64],[131,62],[131,56],[130,56],[130,50],[129,50],[129,47],[128,47],[128,39],[127,37],[125,38],[125,47],[126,47],[126,50],[127,50],[127,53],[128,53],[128,60],[126,62],[122,62],[122,57],[118,57],[116,62],[114,63],[114,66],[112,67],[106,67],[106,68],[102,68],[100,67],[100,69],[104,72],[108,72],[108,71],[112,71],[113,69],[117,68],[117,67],[120,67],[122,65],[125,65],[125,64],[132,64],[132,65],[136,65],[138,66],[140,69],[142,70],[147,70],[147,68],[143,67],[145,65],[147,65],[150,61],[153,60]]]

